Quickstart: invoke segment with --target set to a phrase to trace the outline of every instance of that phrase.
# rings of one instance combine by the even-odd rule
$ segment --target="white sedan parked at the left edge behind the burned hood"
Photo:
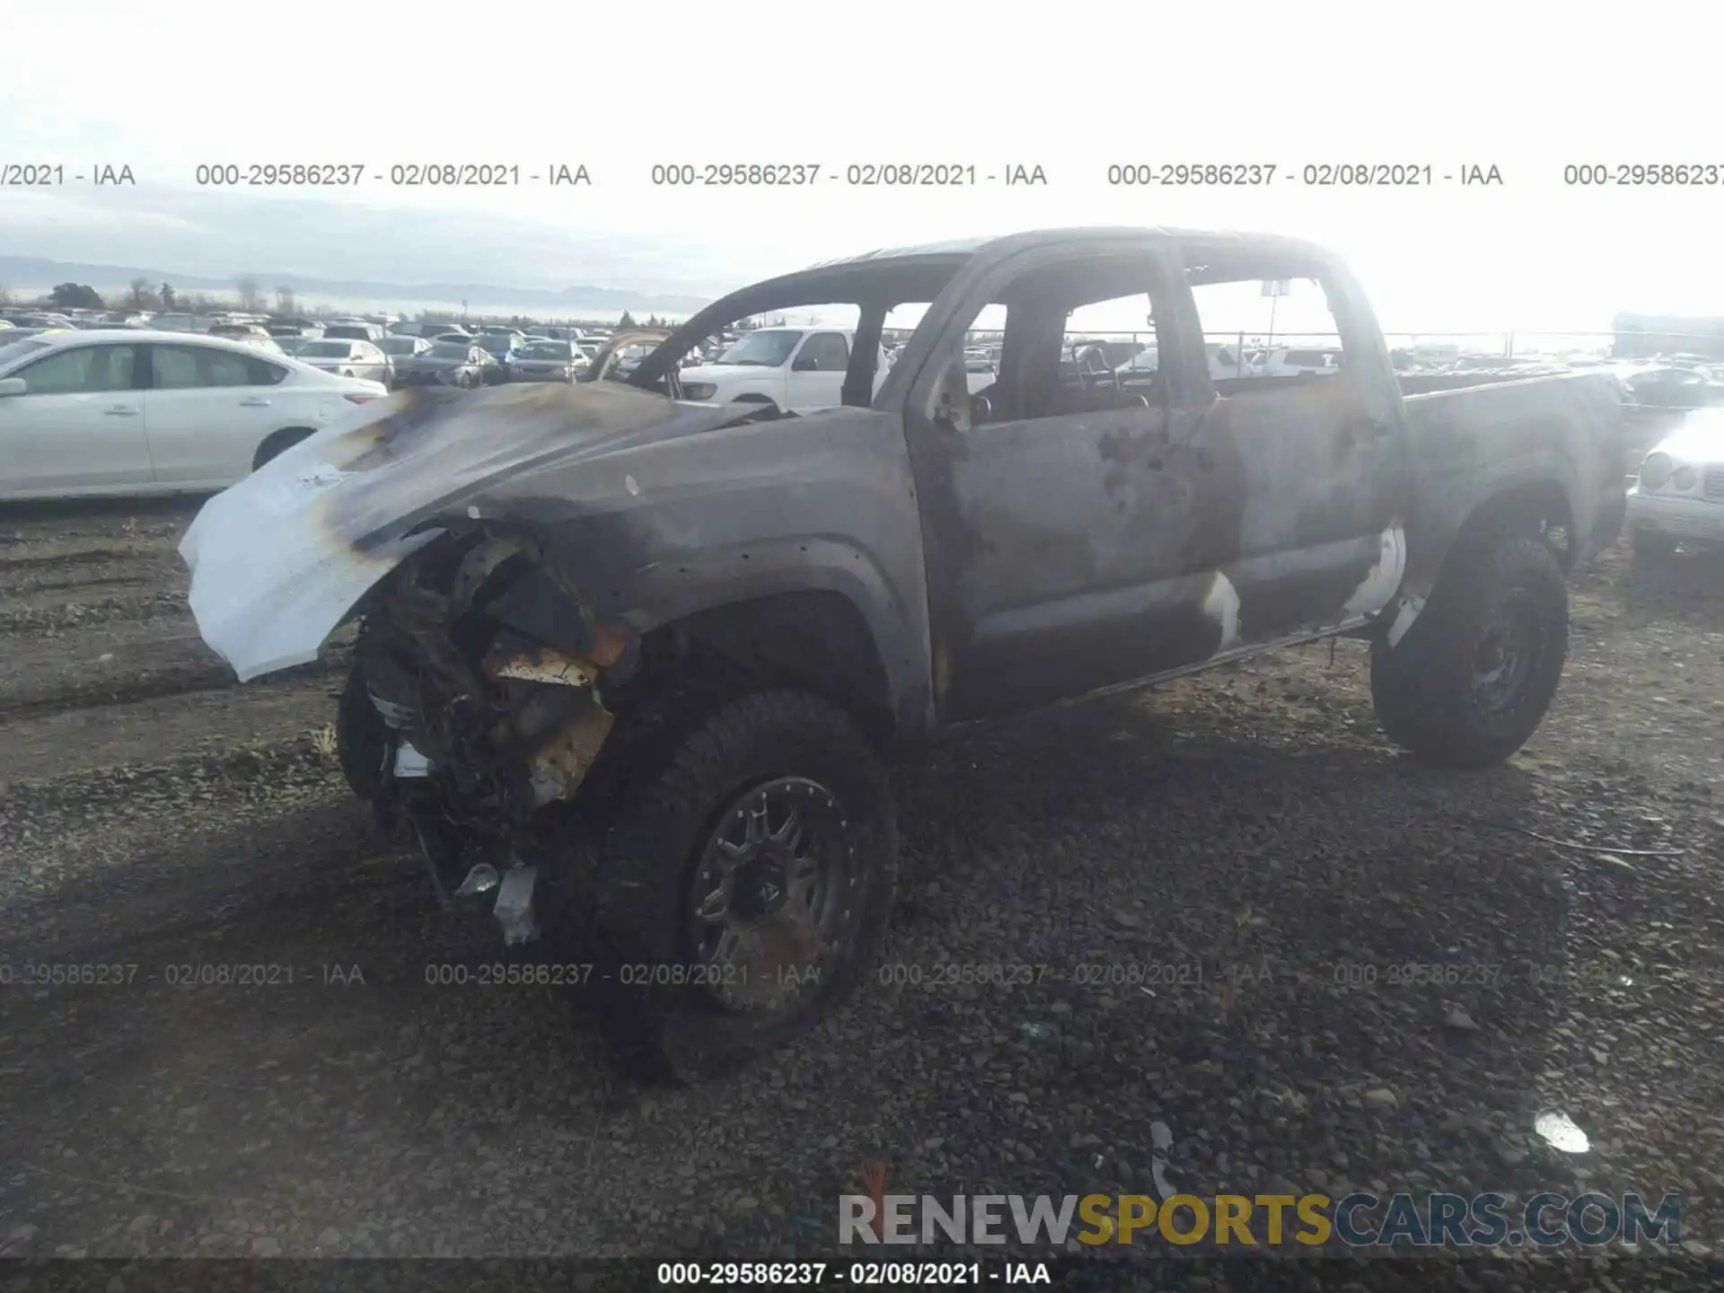
[[[0,341],[0,498],[226,490],[386,393],[188,333]]]

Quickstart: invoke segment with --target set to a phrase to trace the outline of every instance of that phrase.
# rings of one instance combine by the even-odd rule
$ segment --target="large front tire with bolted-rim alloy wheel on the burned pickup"
[[[595,919],[622,1059],[695,1081],[855,986],[886,928],[898,833],[879,759],[821,696],[746,695],[667,746],[610,817]]]

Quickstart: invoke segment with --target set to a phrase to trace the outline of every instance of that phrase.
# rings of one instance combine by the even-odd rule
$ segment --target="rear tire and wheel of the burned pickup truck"
[[[1569,590],[1541,540],[1455,553],[1398,645],[1371,648],[1391,741],[1445,767],[1490,767],[1538,729],[1569,653]]]

